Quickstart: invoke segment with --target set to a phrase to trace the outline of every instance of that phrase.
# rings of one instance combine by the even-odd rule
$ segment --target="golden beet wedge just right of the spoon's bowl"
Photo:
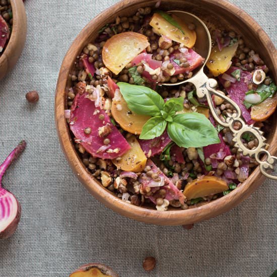
[[[238,43],[234,43],[232,46],[222,48],[221,51],[219,51],[218,46],[213,47],[206,65],[215,77],[225,73],[230,68],[232,57],[235,55],[238,45]]]

